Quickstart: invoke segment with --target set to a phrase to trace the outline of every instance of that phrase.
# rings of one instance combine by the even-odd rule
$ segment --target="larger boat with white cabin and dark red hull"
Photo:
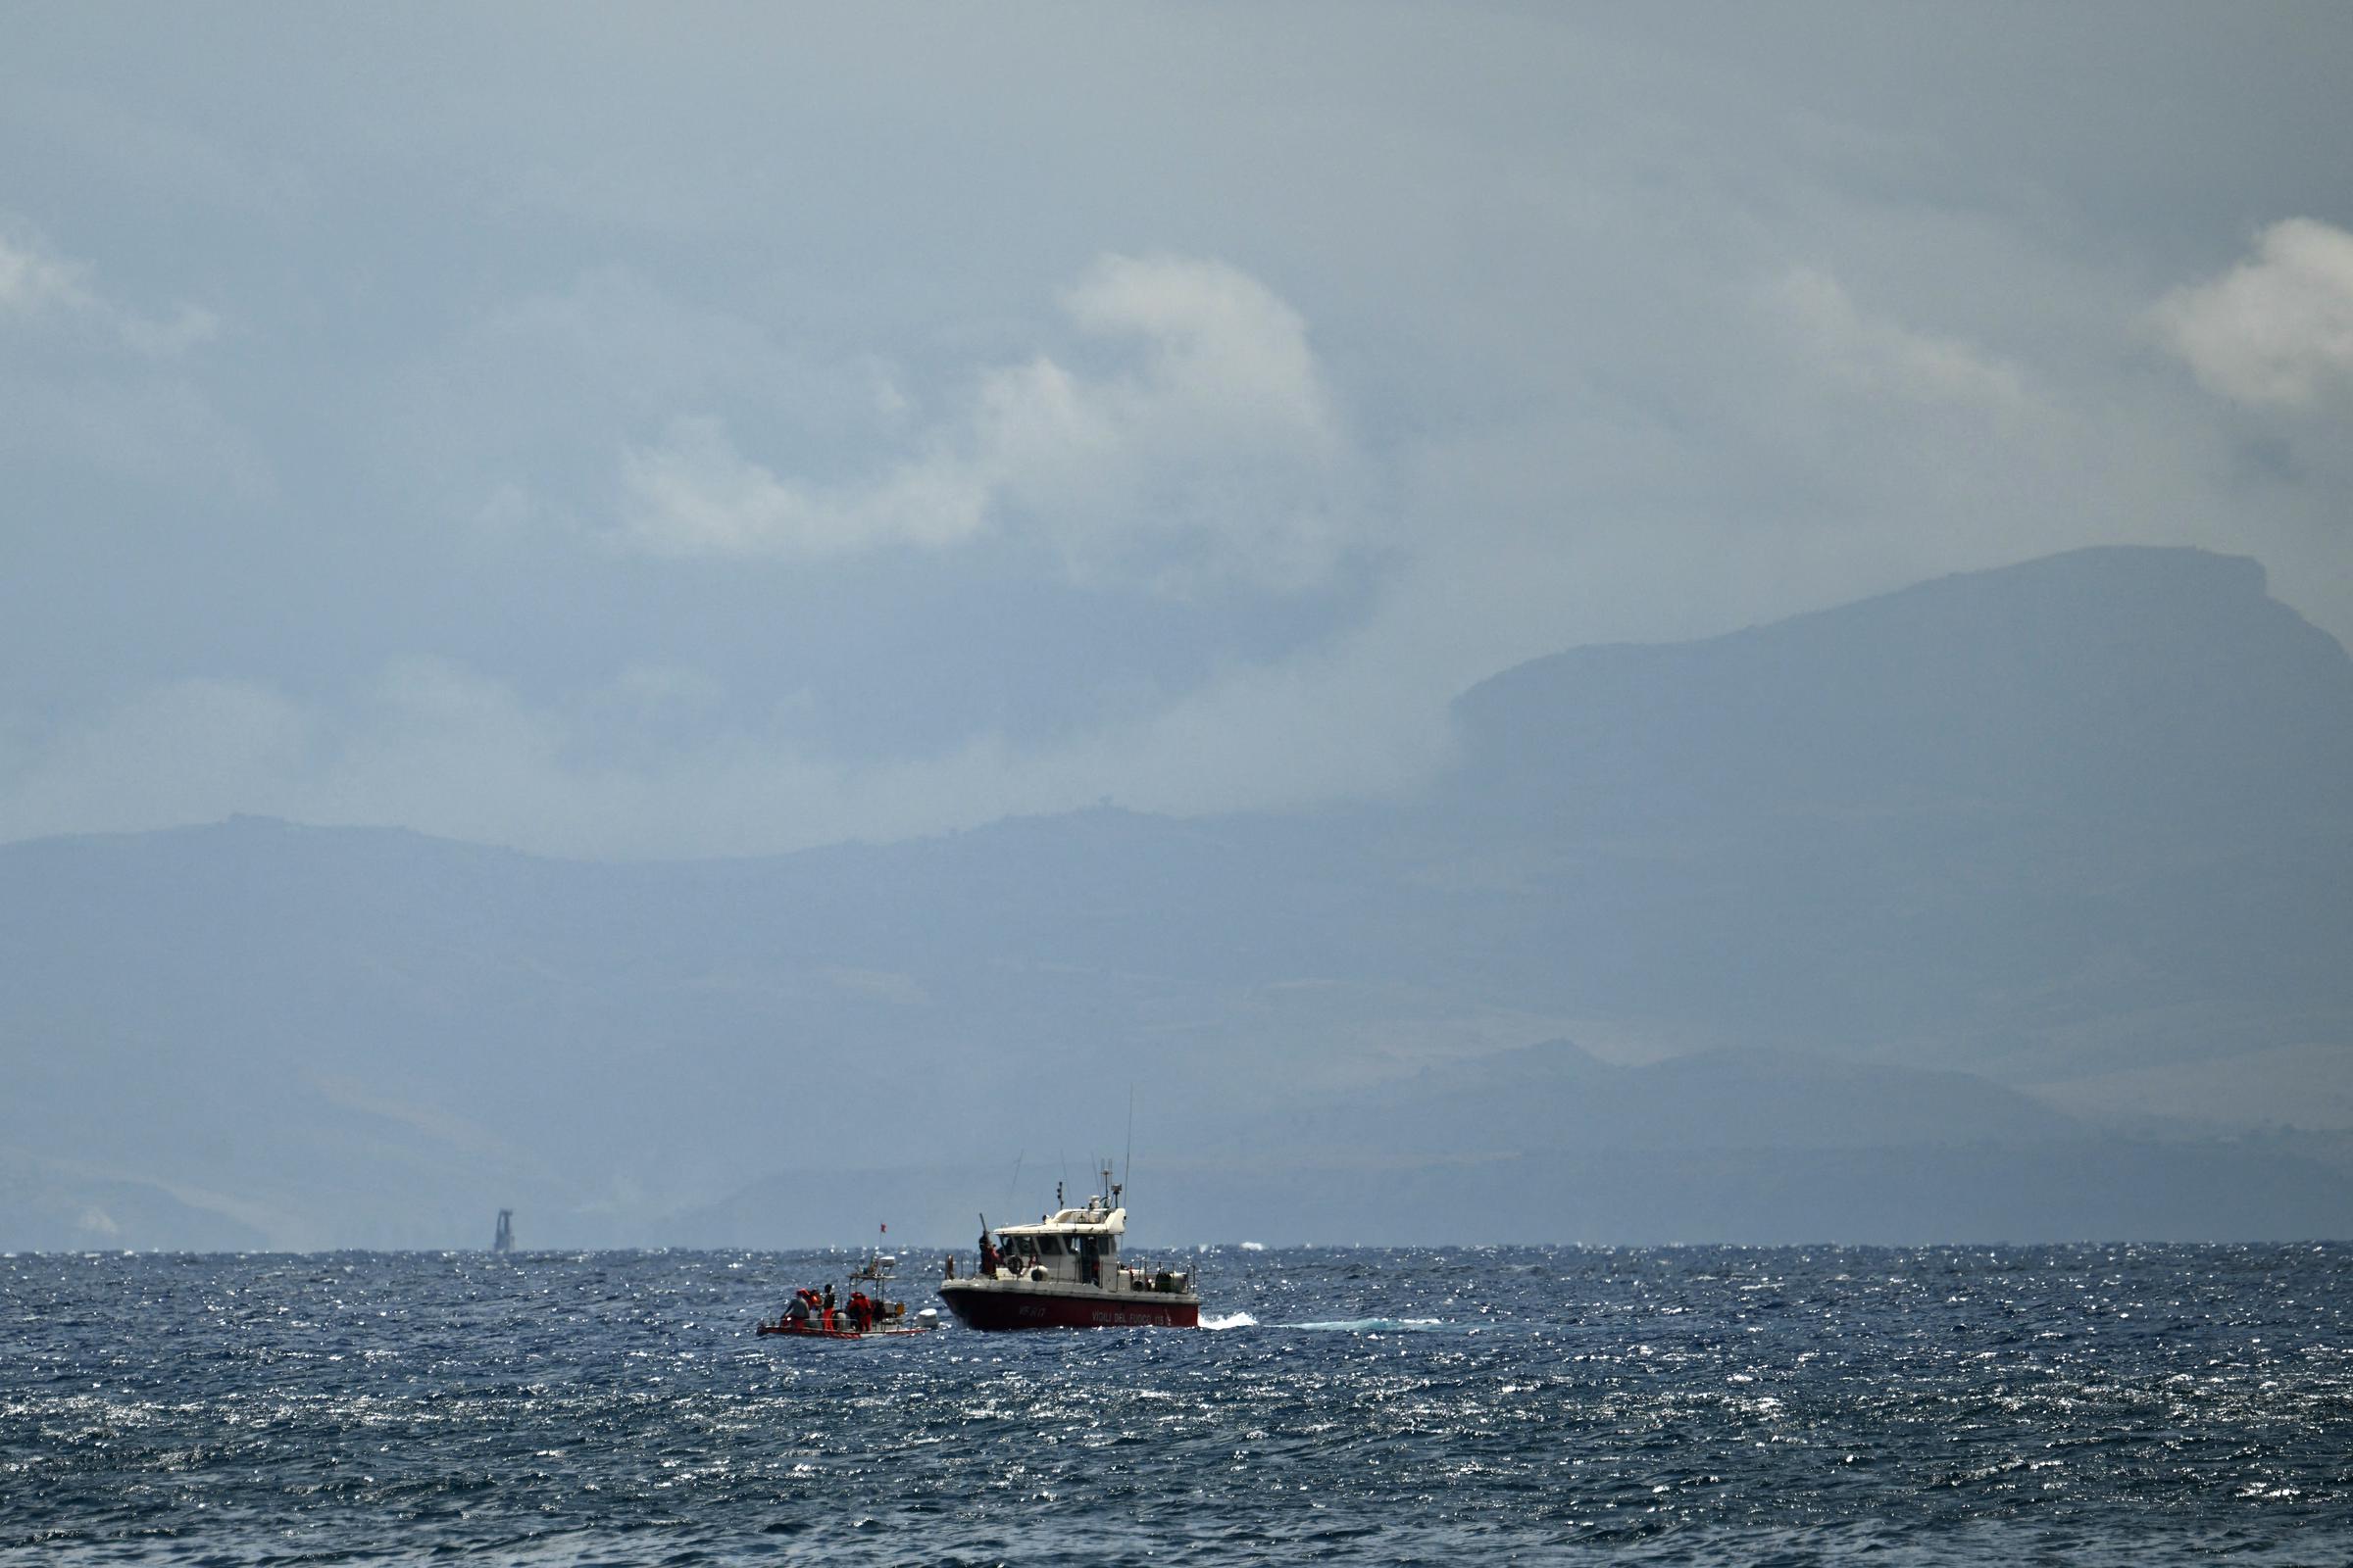
[[[939,1300],[967,1328],[1198,1328],[1200,1295],[1181,1269],[1127,1262],[1127,1211],[1104,1171],[1106,1197],[1056,1208],[1035,1225],[1002,1225],[991,1241],[981,1220],[981,1267],[939,1281]]]

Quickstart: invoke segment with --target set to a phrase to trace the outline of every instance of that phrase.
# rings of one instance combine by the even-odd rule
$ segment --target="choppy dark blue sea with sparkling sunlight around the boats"
[[[1200,1262],[838,1345],[751,1326],[840,1255],[0,1258],[0,1556],[2353,1561],[2346,1246]]]

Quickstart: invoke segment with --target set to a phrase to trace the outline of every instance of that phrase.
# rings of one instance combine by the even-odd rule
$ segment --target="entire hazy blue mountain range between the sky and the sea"
[[[0,1246],[948,1241],[1129,1088],[1162,1237],[2353,1229],[2353,661],[2252,562],[1577,649],[1454,722],[1384,809],[0,846]]]

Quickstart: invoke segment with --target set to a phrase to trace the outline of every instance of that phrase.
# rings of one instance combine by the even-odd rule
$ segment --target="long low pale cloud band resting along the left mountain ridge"
[[[447,658],[398,658],[360,691],[315,701],[181,679],[49,733],[0,715],[0,842],[252,811],[673,858],[906,839],[1099,797],[1146,811],[1313,802],[1398,788],[1438,762],[1438,715],[1400,733],[1398,686],[1365,679],[1367,658],[1386,654],[1351,644],[1233,670],[1047,745],[984,731],[878,759],[746,722],[708,679],[673,668],[631,668],[551,701]]]

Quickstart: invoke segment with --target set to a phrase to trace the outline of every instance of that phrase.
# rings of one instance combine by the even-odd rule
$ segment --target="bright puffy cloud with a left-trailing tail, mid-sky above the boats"
[[[1299,313],[1226,263],[1176,256],[1104,256],[1064,310],[1113,364],[986,369],[911,456],[861,482],[786,477],[715,418],[673,421],[624,454],[616,543],[807,562],[1000,531],[1040,541],[1078,583],[1320,585],[1348,543],[1353,451]]]

